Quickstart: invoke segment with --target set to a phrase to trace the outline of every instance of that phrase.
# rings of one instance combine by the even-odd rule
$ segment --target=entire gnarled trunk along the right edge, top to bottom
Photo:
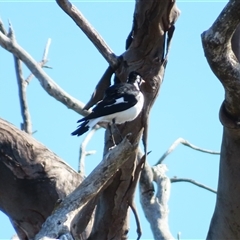
[[[207,239],[240,238],[239,29],[232,39],[240,22],[239,16],[240,2],[231,0],[212,27],[202,34],[208,63],[225,89],[220,109],[224,130],[217,201]]]

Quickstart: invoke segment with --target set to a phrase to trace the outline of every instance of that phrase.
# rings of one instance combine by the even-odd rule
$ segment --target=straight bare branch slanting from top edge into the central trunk
[[[107,60],[113,69],[118,66],[118,58],[113,51],[108,47],[104,39],[99,33],[91,26],[82,13],[70,3],[68,0],[56,0],[57,4],[62,10],[67,13],[73,21],[80,27],[80,29],[86,34],[102,56]]]

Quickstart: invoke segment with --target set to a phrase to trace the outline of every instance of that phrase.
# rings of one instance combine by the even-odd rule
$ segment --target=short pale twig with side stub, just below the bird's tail
[[[87,146],[88,142],[91,140],[94,133],[99,128],[100,128],[100,126],[96,125],[91,131],[89,131],[80,145],[78,172],[82,173],[82,175],[85,175],[85,157],[96,153],[96,151],[94,151],[94,150],[86,151],[86,146]]]

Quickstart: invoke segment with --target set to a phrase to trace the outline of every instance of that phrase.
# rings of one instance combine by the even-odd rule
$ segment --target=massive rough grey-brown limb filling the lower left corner
[[[0,210],[31,239],[83,177],[29,134],[0,119]]]

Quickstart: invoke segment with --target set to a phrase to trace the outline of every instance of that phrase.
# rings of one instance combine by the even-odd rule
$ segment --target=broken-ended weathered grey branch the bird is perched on
[[[69,224],[74,217],[73,211],[82,208],[88,201],[96,197],[135,149],[136,146],[131,145],[127,138],[124,138],[119,145],[106,154],[91,174],[63,200],[46,220],[35,239],[56,238],[67,233],[70,229]]]

